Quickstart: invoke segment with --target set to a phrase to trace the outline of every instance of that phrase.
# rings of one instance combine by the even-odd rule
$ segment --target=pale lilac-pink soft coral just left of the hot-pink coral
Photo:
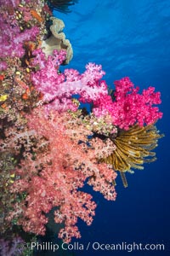
[[[65,59],[64,50],[55,50],[48,58],[41,49],[36,50],[34,54],[36,58],[33,65],[38,65],[40,69],[32,73],[31,79],[37,90],[42,92],[43,102],[50,102],[48,109],[77,110],[77,106],[71,101],[73,95],[78,94],[81,102],[93,102],[100,94],[107,94],[106,84],[99,81],[104,74],[100,65],[89,63],[83,74],[74,69],[57,73],[59,65]]]

